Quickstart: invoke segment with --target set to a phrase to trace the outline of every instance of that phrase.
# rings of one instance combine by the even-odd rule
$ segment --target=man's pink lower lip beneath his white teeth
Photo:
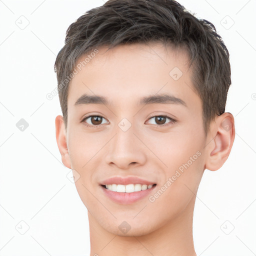
[[[106,196],[108,196],[112,201],[120,204],[130,204],[130,203],[136,202],[142,199],[143,197],[145,197],[146,195],[148,195],[150,192],[152,192],[152,190],[155,187],[156,185],[152,186],[151,188],[147,188],[145,190],[127,193],[127,192],[114,192],[101,186]]]

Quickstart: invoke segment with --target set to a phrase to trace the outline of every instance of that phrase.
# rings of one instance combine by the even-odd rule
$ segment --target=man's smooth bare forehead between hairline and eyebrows
[[[76,62],[68,107],[84,93],[106,97],[116,105],[134,104],[156,93],[170,93],[183,101],[194,97],[186,51],[161,43],[101,46]],[[96,53],[95,53],[96,52]],[[191,98],[190,98],[191,101]]]

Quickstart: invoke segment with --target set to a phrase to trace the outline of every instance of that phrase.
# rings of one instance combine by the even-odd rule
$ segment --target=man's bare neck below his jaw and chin
[[[110,233],[88,211],[90,256],[196,256],[192,237],[194,200],[178,216],[140,236]]]

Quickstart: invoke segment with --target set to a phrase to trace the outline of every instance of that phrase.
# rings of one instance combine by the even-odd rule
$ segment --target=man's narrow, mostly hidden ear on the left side
[[[71,169],[69,153],[66,144],[66,130],[64,125],[64,120],[62,115],[57,115],[55,118],[55,128],[56,128],[56,140],[58,145],[58,150],[61,154],[62,163],[69,169]]]

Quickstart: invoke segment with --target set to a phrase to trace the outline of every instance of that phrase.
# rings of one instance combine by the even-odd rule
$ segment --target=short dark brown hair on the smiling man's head
[[[225,111],[231,84],[229,53],[211,22],[196,18],[174,0],[108,0],[70,24],[54,65],[65,127],[70,73],[77,59],[103,45],[150,41],[186,49],[208,130],[215,115]]]

